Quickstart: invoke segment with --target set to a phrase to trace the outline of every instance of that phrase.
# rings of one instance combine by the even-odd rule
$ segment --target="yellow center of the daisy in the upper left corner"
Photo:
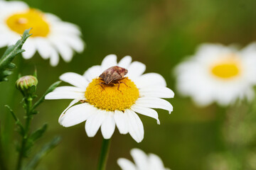
[[[31,33],[33,37],[46,37],[50,32],[50,27],[46,22],[43,13],[36,9],[29,9],[22,13],[15,13],[6,19],[7,26],[18,34],[24,30],[33,28]]]

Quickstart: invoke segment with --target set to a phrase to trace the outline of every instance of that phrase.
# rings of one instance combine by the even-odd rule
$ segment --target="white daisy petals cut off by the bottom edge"
[[[141,149],[131,150],[135,164],[128,159],[119,158],[117,164],[122,170],[170,170],[164,167],[162,160],[156,154],[146,155]]]

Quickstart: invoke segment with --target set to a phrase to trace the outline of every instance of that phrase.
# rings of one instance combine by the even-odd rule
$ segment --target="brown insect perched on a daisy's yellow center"
[[[127,77],[124,77],[127,73],[128,73],[128,70],[122,67],[118,67],[118,66],[110,67],[106,69],[102,74],[100,74],[100,78],[104,82],[101,82],[100,84],[97,84],[97,85],[102,86],[102,84],[105,84],[105,85],[113,86],[114,84],[118,84],[117,90],[119,90],[120,84],[121,83],[125,84],[121,80],[127,78]],[[125,85],[127,86],[127,84]],[[103,86],[102,86],[102,89],[104,89]]]

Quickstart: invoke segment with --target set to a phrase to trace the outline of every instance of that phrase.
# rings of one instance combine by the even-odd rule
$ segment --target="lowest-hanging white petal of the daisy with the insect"
[[[127,109],[124,112],[126,112],[128,115],[129,134],[132,136],[132,138],[134,138],[136,142],[142,142],[144,138],[142,120],[140,120],[139,116],[132,110]]]

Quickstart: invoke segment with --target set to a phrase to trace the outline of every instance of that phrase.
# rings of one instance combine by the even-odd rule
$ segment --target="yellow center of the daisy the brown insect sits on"
[[[120,80],[120,84],[106,85],[103,82],[100,78],[90,82],[85,91],[86,102],[106,111],[124,111],[139,98],[139,89],[128,78]]]

